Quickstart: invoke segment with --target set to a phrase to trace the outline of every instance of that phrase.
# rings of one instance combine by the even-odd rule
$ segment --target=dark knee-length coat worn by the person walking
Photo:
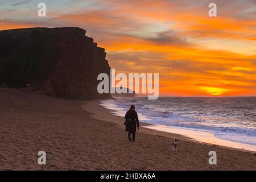
[[[139,127],[139,118],[136,111],[127,111],[125,114],[127,125],[125,125],[125,131],[136,132],[136,125]]]

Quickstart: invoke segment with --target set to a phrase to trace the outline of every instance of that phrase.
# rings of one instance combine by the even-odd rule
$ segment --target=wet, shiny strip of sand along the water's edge
[[[90,101],[89,103],[87,103],[87,105],[88,106],[85,106],[86,110],[89,110],[94,115],[94,118],[100,119],[103,121],[114,122],[122,126],[122,121],[124,120],[123,117],[118,115],[113,115],[112,112],[114,113],[115,110],[112,108],[106,108],[102,106],[101,100]],[[95,112],[96,109],[90,110],[90,107],[95,107],[94,105],[98,105],[99,107],[101,107],[101,108],[97,108],[97,110],[100,110],[101,113],[104,113],[104,117],[102,117],[102,115],[98,115]],[[107,110],[107,111],[104,111],[104,110]],[[108,117],[106,117],[106,114],[107,115],[109,114]],[[109,117],[111,119],[106,119]],[[163,137],[168,137],[168,138],[177,138],[177,139],[183,139],[183,140],[194,141],[199,143],[205,143],[210,146],[217,145],[219,147],[226,147],[232,150],[238,150],[238,151],[244,151],[244,152],[253,152],[254,154],[256,154],[256,146],[245,144],[245,143],[233,142],[226,139],[220,139],[215,137],[213,133],[208,131],[199,131],[199,130],[193,130],[193,129],[186,129],[182,127],[166,126],[166,125],[154,125],[154,124],[146,123],[143,121],[140,121],[140,123],[144,129],[142,132],[147,134],[161,135]]]

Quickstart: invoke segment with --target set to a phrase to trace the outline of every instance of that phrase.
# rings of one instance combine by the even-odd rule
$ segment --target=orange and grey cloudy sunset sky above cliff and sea
[[[256,96],[256,0],[1,0],[0,30],[26,27],[84,28],[115,72],[159,73],[162,96]]]

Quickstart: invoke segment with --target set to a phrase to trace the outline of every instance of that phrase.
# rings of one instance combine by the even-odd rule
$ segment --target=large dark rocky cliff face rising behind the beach
[[[108,98],[97,92],[99,73],[110,75],[104,48],[81,28],[0,31],[0,85],[30,85],[50,96]]]

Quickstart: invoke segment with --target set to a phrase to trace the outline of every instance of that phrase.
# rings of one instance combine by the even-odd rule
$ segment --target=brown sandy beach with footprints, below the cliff
[[[147,129],[129,142],[123,118],[100,101],[63,100],[25,89],[0,89],[1,170],[256,170],[252,151]],[[172,140],[180,139],[177,152]],[[46,151],[46,165],[38,152]],[[216,151],[217,165],[210,165]]]

